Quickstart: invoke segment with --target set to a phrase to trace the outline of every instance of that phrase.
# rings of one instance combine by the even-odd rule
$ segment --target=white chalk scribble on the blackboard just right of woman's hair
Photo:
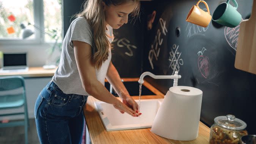
[[[132,57],[133,56],[133,52],[132,52],[132,48],[133,49],[137,49],[137,47],[135,45],[131,45],[130,41],[126,38],[122,38],[122,39],[115,39],[113,42],[117,41],[117,46],[118,47],[126,47],[128,49],[129,52],[125,52],[124,54],[126,54],[127,56]]]

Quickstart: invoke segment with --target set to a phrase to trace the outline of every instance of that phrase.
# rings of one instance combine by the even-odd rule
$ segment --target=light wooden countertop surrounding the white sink
[[[137,81],[138,78],[123,78],[124,81]],[[157,95],[143,95],[141,99],[161,99],[164,97],[162,92],[158,91],[147,81],[143,83],[148,89]],[[138,99],[138,96],[133,96],[133,99]],[[92,96],[89,96],[83,112],[88,127],[92,144],[208,144],[210,137],[210,128],[199,122],[198,138],[193,141],[176,141],[166,139],[161,136],[151,133],[151,128],[141,128],[133,130],[106,131],[104,125],[97,113],[94,102],[99,101]]]

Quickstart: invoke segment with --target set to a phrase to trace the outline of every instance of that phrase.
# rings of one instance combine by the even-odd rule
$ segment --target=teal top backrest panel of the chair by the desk
[[[0,91],[8,91],[23,87],[25,91],[24,78],[21,76],[0,77]]]

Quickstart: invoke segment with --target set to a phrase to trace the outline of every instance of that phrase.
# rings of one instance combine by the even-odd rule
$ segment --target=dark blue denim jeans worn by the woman
[[[83,106],[87,95],[64,94],[50,81],[35,104],[36,129],[41,144],[80,144],[83,135]]]

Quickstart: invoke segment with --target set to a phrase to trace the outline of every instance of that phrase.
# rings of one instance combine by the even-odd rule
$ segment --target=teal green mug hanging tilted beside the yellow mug
[[[233,7],[229,1],[230,0],[217,6],[214,14],[212,15],[212,20],[226,27],[234,28],[240,24],[242,21],[242,16],[237,11],[238,4],[236,0],[232,0],[235,7]]]

